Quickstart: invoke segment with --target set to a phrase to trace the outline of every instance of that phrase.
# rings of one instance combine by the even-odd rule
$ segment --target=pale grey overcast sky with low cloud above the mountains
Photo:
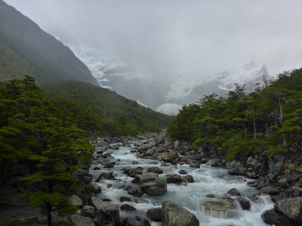
[[[4,0],[62,39],[189,66],[246,55],[270,75],[302,67],[301,0]]]

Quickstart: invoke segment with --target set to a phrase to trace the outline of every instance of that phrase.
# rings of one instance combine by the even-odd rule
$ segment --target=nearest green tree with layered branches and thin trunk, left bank
[[[76,190],[76,178],[72,172],[82,165],[90,167],[93,146],[88,141],[79,140],[85,133],[76,127],[65,128],[59,119],[53,118],[45,124],[43,132],[47,134],[46,149],[41,155],[32,155],[28,159],[37,162],[37,173],[20,179],[26,184],[34,185],[39,192],[26,192],[16,196],[28,200],[34,207],[47,210],[48,226],[52,225],[51,212],[60,210],[70,214],[77,210],[65,194]]]

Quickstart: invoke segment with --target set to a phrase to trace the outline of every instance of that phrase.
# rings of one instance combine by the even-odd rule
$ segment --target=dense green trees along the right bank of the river
[[[275,81],[245,92],[236,84],[227,97],[216,93],[184,105],[167,129],[170,137],[219,151],[227,161],[251,153],[273,157],[301,143],[302,68],[284,71]]]

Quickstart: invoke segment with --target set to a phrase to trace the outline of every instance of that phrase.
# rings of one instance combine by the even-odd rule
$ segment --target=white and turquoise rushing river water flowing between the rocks
[[[261,214],[267,209],[273,207],[273,203],[269,201],[268,196],[256,196],[252,197],[252,192],[256,191],[255,188],[248,187],[247,180],[243,182],[243,178],[236,178],[227,174],[227,170],[223,168],[210,167],[209,165],[200,165],[200,169],[190,168],[189,165],[178,165],[161,167],[160,164],[149,164],[154,161],[151,159],[138,159],[136,153],[130,153],[131,148],[120,147],[119,150],[108,150],[112,152],[112,156],[116,159],[120,159],[120,162],[116,162],[114,168],[104,170],[90,170],[91,174],[95,174],[95,177],[102,172],[113,171],[117,174],[117,180],[101,180],[98,185],[101,186],[102,192],[97,197],[108,197],[114,203],[120,204],[119,197],[129,196],[126,190],[120,189],[122,185],[130,185],[133,178],[123,174],[123,168],[125,165],[130,165],[133,168],[138,166],[143,167],[146,172],[149,167],[159,167],[164,174],[159,174],[159,177],[166,178],[167,173],[176,173],[181,169],[185,169],[188,174],[192,175],[195,182],[188,183],[187,186],[178,186],[175,184],[168,184],[168,192],[163,196],[148,196],[143,195],[141,198],[146,199],[149,203],[134,203],[124,202],[134,206],[137,209],[136,215],[143,215],[148,209],[157,208],[161,206],[162,201],[171,201],[180,206],[183,206],[189,212],[193,213],[199,220],[200,225],[203,226],[261,226],[265,224],[261,219]],[[112,160],[114,162],[115,160]],[[137,161],[139,165],[133,165],[132,162]],[[159,162],[157,160],[157,162]],[[160,162],[159,162],[160,163]],[[92,169],[101,165],[94,165]],[[108,188],[107,184],[112,184],[112,187]],[[242,197],[246,197],[251,202],[250,211],[241,209],[239,203],[235,201],[237,206],[236,212],[230,211],[229,215],[236,215],[236,218],[224,219],[224,218],[213,218],[204,212],[203,203],[211,200],[206,198],[208,194],[214,194],[217,198],[224,196],[230,189],[236,188],[240,191]],[[237,202],[237,203],[236,203]],[[112,204],[112,203],[111,203]],[[126,217],[129,213],[120,211],[120,216]],[[214,214],[215,213],[211,213]],[[213,216],[213,215],[212,215]],[[161,225],[160,222],[151,221],[152,226]]]

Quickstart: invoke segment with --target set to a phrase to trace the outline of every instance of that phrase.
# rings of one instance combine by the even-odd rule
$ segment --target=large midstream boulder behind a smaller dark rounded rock
[[[167,182],[159,178],[155,173],[143,173],[140,176],[139,184],[143,185],[143,191],[147,191],[150,187],[159,187],[165,193],[167,192]]]

